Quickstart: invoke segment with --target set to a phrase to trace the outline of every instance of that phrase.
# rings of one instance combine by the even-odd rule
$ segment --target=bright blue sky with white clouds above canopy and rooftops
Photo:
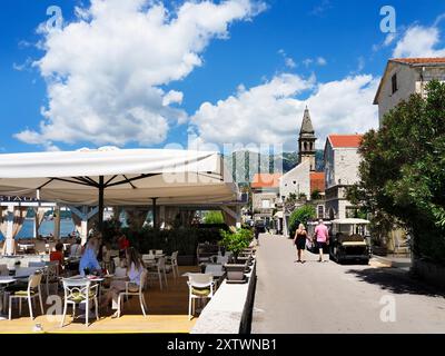
[[[105,0],[96,0],[97,3],[101,1]],[[109,8],[96,16],[100,17],[97,22],[107,28],[107,11],[119,6],[117,2],[112,4],[112,0],[105,2],[109,2]],[[140,4],[144,1],[129,2]],[[119,24],[112,24],[119,38],[110,34],[109,41],[103,41],[99,37],[87,34],[79,39],[70,34],[72,21],[91,21],[91,11],[89,19],[81,20],[75,16],[75,6],[90,10],[87,0],[2,1],[1,152],[106,145],[185,146],[189,134],[204,144],[281,142],[286,150],[293,150],[305,105],[309,105],[312,110],[319,142],[328,132],[364,131],[375,127],[377,118],[372,97],[387,59],[395,53],[422,57],[423,53],[416,52],[419,40],[427,42],[426,47],[433,55],[442,55],[445,48],[445,19],[442,21],[439,18],[445,13],[445,2],[439,0],[230,0],[233,7],[225,10],[221,1],[214,1],[215,8],[210,10],[202,3],[199,6],[198,1],[196,10],[184,16],[184,22],[195,21],[204,29],[184,24],[179,31],[185,29],[184,38],[180,33],[170,38],[170,32],[161,32],[167,33],[166,37],[157,37],[155,44],[152,39],[145,42],[147,37],[139,38],[142,31],[155,29],[155,22],[150,24],[147,20],[134,29],[135,33],[125,24],[130,23],[126,21],[131,21],[135,16],[149,11],[150,2],[147,1],[144,8],[119,9],[122,17],[128,16],[121,22],[126,29],[118,31],[116,27]],[[157,6],[160,2],[157,1]],[[164,1],[166,11],[169,11],[165,18],[167,24],[174,21],[185,2]],[[387,46],[383,44],[387,33],[379,30],[379,10],[385,4],[396,9],[397,21],[396,37],[388,40],[390,43]],[[49,6],[59,6],[62,10],[66,33],[60,36],[63,36],[65,44],[60,41],[51,44],[50,34],[37,33],[39,24],[49,19],[46,14]],[[220,26],[204,21],[206,16],[217,16],[218,11],[221,14],[215,22],[221,21]],[[107,38],[107,32],[98,32]],[[196,39],[191,41],[194,36]],[[106,48],[115,39],[115,46],[126,46],[125,56]],[[40,49],[36,46],[39,41]],[[185,41],[190,43],[182,48],[180,44]],[[190,66],[184,53],[171,48],[176,46],[184,53],[196,55],[199,63]],[[102,47],[105,52],[96,50]],[[82,50],[77,51],[77,48]],[[95,55],[85,48],[92,48]],[[162,57],[164,49],[172,55]],[[110,52],[112,65],[103,56],[107,52]],[[122,56],[128,60],[122,60]],[[144,68],[144,56],[147,56],[149,68]],[[177,62],[171,59],[174,56],[178,56]],[[32,66],[42,58],[48,59],[44,66]],[[55,63],[55,58],[62,58],[67,66]],[[71,58],[78,62],[91,61],[91,65],[79,69],[68,65]],[[159,63],[171,59],[171,63],[159,65],[157,69],[156,58],[159,58]],[[181,66],[188,67],[177,72]],[[44,69],[50,73],[44,73]],[[146,72],[150,73],[140,77],[139,73]],[[55,73],[65,77],[58,82]],[[78,80],[76,85],[68,85],[68,78]],[[137,78],[141,78],[141,83]],[[91,82],[87,83],[89,89],[82,92],[86,90],[83,85],[90,79]],[[156,92],[146,92],[144,80],[147,88]],[[117,92],[121,87],[129,89]],[[66,89],[63,92],[72,98],[72,102],[66,102],[66,97],[55,91],[57,88]],[[99,93],[98,98],[91,99],[91,88]],[[162,107],[159,102],[165,101],[169,92],[175,99]],[[350,107],[342,101],[349,96]],[[42,107],[47,110],[46,117],[41,113]],[[51,107],[53,110],[49,110]],[[359,118],[363,112],[368,117]],[[85,117],[88,119],[81,122],[79,118]],[[40,127],[42,120],[44,129]],[[78,129],[83,130],[86,122],[87,126],[91,122],[88,131],[76,134]],[[63,125],[69,126],[67,132],[61,132]],[[116,140],[115,136],[118,137]]]

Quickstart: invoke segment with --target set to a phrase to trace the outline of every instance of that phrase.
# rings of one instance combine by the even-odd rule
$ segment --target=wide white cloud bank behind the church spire
[[[372,76],[316,83],[314,77],[284,73],[250,89],[240,87],[236,95],[215,105],[202,103],[191,119],[191,130],[200,142],[281,142],[286,150],[295,151],[308,105],[322,148],[330,132],[364,132],[377,127],[377,108],[373,106],[377,86],[378,79]],[[308,98],[298,99],[306,91]]]

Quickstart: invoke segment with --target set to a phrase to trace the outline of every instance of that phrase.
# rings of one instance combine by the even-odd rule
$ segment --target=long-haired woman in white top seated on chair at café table
[[[134,247],[127,249],[127,278],[116,279],[110,284],[110,289],[103,297],[102,307],[108,306],[112,301],[112,309],[118,309],[119,294],[126,290],[126,281],[130,281],[128,285],[129,291],[138,291],[140,286],[140,275],[145,269],[145,264]],[[113,318],[118,316],[117,312],[112,315]]]

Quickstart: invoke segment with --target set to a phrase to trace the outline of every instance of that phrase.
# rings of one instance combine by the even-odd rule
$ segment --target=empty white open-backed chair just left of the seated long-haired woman
[[[72,305],[72,317],[76,317],[76,306],[85,305],[85,326],[88,327],[89,322],[89,309],[90,303],[95,303],[96,306],[96,319],[99,320],[98,312],[98,288],[99,285],[95,284],[91,286],[91,280],[88,278],[63,278],[63,291],[65,291],[65,304],[63,315],[60,327],[63,327],[65,318],[67,316],[68,304]]]

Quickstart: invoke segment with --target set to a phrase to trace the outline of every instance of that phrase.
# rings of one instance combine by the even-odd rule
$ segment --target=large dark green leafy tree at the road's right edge
[[[364,136],[360,181],[347,197],[405,226],[417,257],[445,264],[445,83],[411,96]]]

